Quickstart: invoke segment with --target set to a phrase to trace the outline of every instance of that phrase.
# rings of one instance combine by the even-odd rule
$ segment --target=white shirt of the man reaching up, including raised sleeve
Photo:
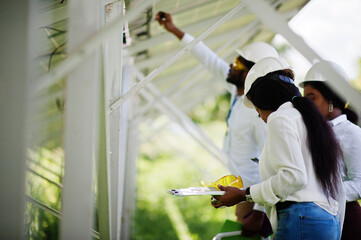
[[[183,45],[194,38],[185,34],[181,40]],[[230,66],[219,58],[203,42],[199,42],[191,50],[192,55],[212,73],[214,77],[226,83]],[[231,103],[237,97],[237,88],[227,84],[232,94]],[[247,108],[243,96],[236,99],[227,119],[228,131],[224,139],[223,151],[228,156],[228,167],[232,174],[241,176],[245,187],[259,182],[258,161],[266,139],[266,124],[258,117],[254,109]]]

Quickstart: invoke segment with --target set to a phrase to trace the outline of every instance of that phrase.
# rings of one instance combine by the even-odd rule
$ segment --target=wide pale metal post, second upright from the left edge
[[[68,10],[68,50],[71,52],[97,32],[100,9],[97,0],[78,0],[70,1]],[[99,156],[100,65],[99,52],[92,51],[67,79],[63,219],[60,226],[63,240],[91,238],[94,158]]]

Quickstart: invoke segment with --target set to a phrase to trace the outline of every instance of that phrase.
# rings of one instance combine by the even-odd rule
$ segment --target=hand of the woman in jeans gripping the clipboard
[[[217,202],[212,202],[212,206],[215,208],[222,206],[231,207],[237,203],[246,201],[246,190],[236,187],[224,187],[222,185],[218,185],[218,188],[221,191],[225,191],[225,193],[222,196],[213,196],[218,200]]]

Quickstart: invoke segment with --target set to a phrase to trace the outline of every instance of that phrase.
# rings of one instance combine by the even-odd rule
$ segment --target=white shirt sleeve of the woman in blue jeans
[[[275,205],[301,190],[307,183],[306,166],[301,151],[299,133],[290,119],[277,116],[268,120],[267,141],[260,161],[274,175],[253,185],[253,200],[263,205]]]

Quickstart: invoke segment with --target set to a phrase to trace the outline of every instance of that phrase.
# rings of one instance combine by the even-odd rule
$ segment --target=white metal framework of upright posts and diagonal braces
[[[37,205],[62,219],[62,239],[90,239],[91,236],[99,237],[99,233],[91,231],[94,210],[94,166],[100,164],[104,172],[100,178],[104,180],[102,192],[108,196],[105,201],[104,219],[108,221],[103,228],[103,238],[129,239],[129,221],[134,209],[135,189],[135,159],[137,149],[137,124],[139,119],[128,122],[129,116],[134,116],[130,106],[136,100],[136,93],[140,90],[146,100],[149,101],[141,113],[147,112],[154,106],[170,119],[179,123],[200,145],[209,153],[225,164],[225,156],[218,147],[182,112],[170,99],[167,93],[162,93],[151,81],[164,69],[174,63],[184,53],[189,51],[199,41],[205,39],[212,31],[221,24],[239,13],[245,6],[255,13],[264,25],[283,35],[306,59],[311,63],[321,60],[298,35],[287,25],[281,14],[274,11],[273,7],[263,0],[244,0],[230,10],[218,21],[209,26],[203,33],[194,39],[180,51],[174,53],[159,68],[148,76],[144,76],[139,70],[133,68],[131,58],[123,56],[122,44],[117,41],[121,29],[127,23],[135,19],[143,10],[154,4],[154,0],[144,0],[137,7],[130,9],[126,14],[117,10],[109,24],[101,20],[101,11],[110,3],[124,5],[124,0],[78,0],[70,1],[67,11],[69,12],[69,44],[68,57],[51,72],[40,78],[30,79],[30,47],[32,38],[28,31],[32,26],[39,26],[36,20],[34,8],[29,1],[13,0],[2,4],[0,15],[5,16],[7,21],[0,21],[0,26],[6,36],[0,39],[7,46],[0,54],[3,59],[0,76],[1,94],[0,105],[2,107],[1,136],[1,160],[0,168],[1,189],[0,198],[1,216],[7,216],[0,220],[0,236],[6,239],[22,239],[24,200]],[[19,7],[21,6],[21,7]],[[118,6],[119,7],[119,6]],[[117,6],[114,7],[116,9]],[[101,10],[99,10],[101,9]],[[119,10],[119,9],[118,9]],[[58,9],[59,18],[63,18],[64,8]],[[29,17],[30,16],[30,17]],[[49,13],[42,15],[48,21]],[[196,25],[185,28],[187,31],[199,30],[218,18],[219,16],[206,19]],[[86,21],[84,21],[86,19]],[[21,20],[21,21],[19,21]],[[19,25],[13,23],[21,22]],[[29,26],[31,25],[31,26]],[[105,26],[101,26],[105,25]],[[9,30],[11,28],[11,30]],[[246,31],[246,30],[245,30]],[[121,35],[120,35],[121,37]],[[156,38],[136,44],[129,48],[135,52],[149,47],[153,41],[167,39],[168,35],[159,35]],[[12,44],[8,44],[9,40]],[[231,44],[231,41],[229,42]],[[101,46],[103,45],[103,48]],[[103,50],[103,55],[101,55]],[[118,54],[113,54],[113,51]],[[229,55],[230,52],[225,55]],[[16,56],[14,58],[14,56]],[[101,57],[104,62],[101,62]],[[106,74],[101,76],[101,63],[104,63]],[[124,67],[124,69],[122,69]],[[194,68],[198,69],[198,68]],[[124,71],[123,71],[124,70]],[[331,86],[342,95],[346,94],[350,102],[359,111],[361,95],[350,85],[340,79],[338,73],[328,64],[322,66],[322,72],[330,78]],[[193,70],[196,71],[196,70]],[[133,87],[135,73],[141,80]],[[48,88],[59,79],[67,76],[65,109],[65,177],[63,191],[62,213],[47,207],[45,204],[24,195],[25,188],[25,160],[27,149],[27,111],[30,111],[29,102],[43,101],[48,96],[42,96],[44,89]],[[336,77],[335,77],[336,76]],[[5,79],[5,80],[4,80]],[[32,80],[34,84],[30,84]],[[184,78],[180,81],[184,81]],[[101,92],[104,83],[104,93]],[[185,88],[186,89],[186,88]],[[171,90],[169,90],[171,91]],[[342,91],[342,92],[341,92]],[[81,93],[81,96],[79,96]],[[103,95],[104,94],[104,95]],[[200,97],[202,97],[201,95]],[[32,101],[29,101],[31,97]],[[104,97],[104,101],[102,101]],[[176,96],[175,96],[176,97]],[[5,100],[6,101],[5,101]],[[103,104],[103,106],[101,106]],[[128,106],[129,105],[129,106]],[[101,112],[103,108],[104,112]],[[105,116],[103,116],[104,114]],[[99,122],[99,115],[104,117],[104,123]],[[50,120],[51,121],[51,120]],[[101,157],[98,140],[99,133],[105,129],[106,149],[105,161],[95,161]],[[61,185],[59,185],[61,187]],[[125,211],[126,210],[126,211]],[[122,222],[121,218],[125,221]]]

